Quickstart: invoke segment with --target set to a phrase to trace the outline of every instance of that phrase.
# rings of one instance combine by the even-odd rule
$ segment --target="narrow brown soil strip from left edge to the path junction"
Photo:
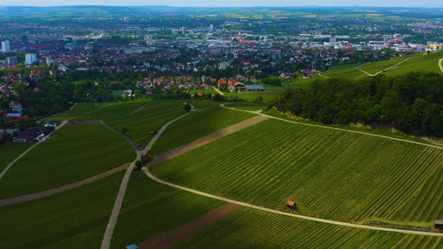
[[[17,204],[17,203],[23,203],[26,201],[32,201],[32,200],[40,199],[40,198],[43,198],[46,196],[51,196],[53,194],[58,194],[58,193],[66,191],[66,190],[72,190],[75,187],[80,187],[82,185],[92,183],[93,181],[100,180],[100,179],[105,178],[107,176],[111,176],[111,174],[115,174],[116,172],[120,172],[123,169],[127,169],[127,167],[129,167],[129,165],[130,165],[130,163],[126,163],[125,165],[121,165],[121,166],[116,167],[114,169],[108,170],[107,172],[103,172],[102,174],[98,174],[96,176],[86,178],[82,181],[78,181],[78,182],[64,185],[61,187],[55,187],[51,190],[44,190],[42,192],[37,192],[37,193],[33,193],[33,194],[25,194],[22,196],[12,197],[12,198],[8,198],[8,199],[2,199],[2,200],[0,200],[0,207],[4,207],[6,205]]]

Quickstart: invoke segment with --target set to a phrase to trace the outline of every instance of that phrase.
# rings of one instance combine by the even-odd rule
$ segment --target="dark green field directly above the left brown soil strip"
[[[134,160],[129,142],[101,124],[62,127],[0,180],[0,199],[60,187]]]

